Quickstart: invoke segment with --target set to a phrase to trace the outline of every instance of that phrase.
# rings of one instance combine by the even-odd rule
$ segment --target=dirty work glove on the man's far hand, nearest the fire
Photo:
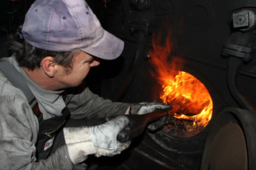
[[[144,115],[153,111],[169,111],[172,110],[173,107],[169,104],[164,103],[138,103],[138,104],[130,104],[130,115]],[[158,119],[157,121],[150,123],[148,126],[148,129],[151,131],[157,130],[165,125],[165,123],[169,123],[171,121],[172,117],[170,115],[165,115],[161,119]]]

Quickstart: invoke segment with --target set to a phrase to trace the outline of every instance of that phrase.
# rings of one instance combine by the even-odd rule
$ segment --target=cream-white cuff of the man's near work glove
[[[64,138],[73,164],[79,164],[87,159],[87,155],[95,154],[88,127],[64,127]]]

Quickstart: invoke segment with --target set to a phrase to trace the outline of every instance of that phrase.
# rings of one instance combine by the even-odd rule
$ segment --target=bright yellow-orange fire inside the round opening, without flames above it
[[[165,104],[173,105],[177,119],[188,119],[205,126],[211,119],[212,100],[205,86],[196,77],[179,71],[175,78],[165,78],[162,85]]]

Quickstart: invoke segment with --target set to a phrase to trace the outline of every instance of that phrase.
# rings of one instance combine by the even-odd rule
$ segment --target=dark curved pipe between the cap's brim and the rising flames
[[[145,43],[148,38],[148,34],[145,32],[138,32],[138,41],[137,41],[137,48],[134,54],[134,58],[130,64],[130,67],[127,71],[126,77],[122,81],[122,85],[120,86],[120,89],[118,89],[118,93],[113,98],[113,101],[121,101],[122,98],[126,95],[126,92],[128,91],[131,82],[134,80],[134,76],[138,71],[138,66],[140,66],[140,63],[142,61],[143,52],[145,49]]]

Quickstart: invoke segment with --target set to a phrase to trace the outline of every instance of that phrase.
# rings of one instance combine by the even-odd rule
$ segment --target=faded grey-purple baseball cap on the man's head
[[[24,39],[47,51],[80,49],[100,59],[116,59],[122,40],[107,32],[84,0],[37,0],[22,27]]]

